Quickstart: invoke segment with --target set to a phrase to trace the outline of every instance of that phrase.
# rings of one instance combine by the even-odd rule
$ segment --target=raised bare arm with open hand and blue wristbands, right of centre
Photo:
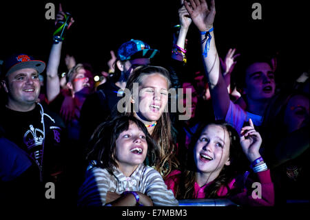
[[[214,17],[216,14],[214,0],[211,0],[210,6],[205,0],[189,0],[184,1],[185,8],[189,12],[192,21],[200,32],[208,31],[213,27]],[[220,72],[220,59],[216,50],[214,31],[211,33],[211,42],[207,57],[203,56],[203,63],[210,88],[211,100],[214,107],[214,113],[218,119],[225,119],[229,108],[229,93],[223,75]],[[200,40],[203,41],[205,35],[201,34]],[[201,44],[201,48],[205,50],[205,43]]]

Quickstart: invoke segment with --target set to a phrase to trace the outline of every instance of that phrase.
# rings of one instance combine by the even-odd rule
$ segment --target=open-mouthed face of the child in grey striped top
[[[147,141],[143,131],[130,123],[128,130],[119,134],[116,139],[116,162],[118,168],[122,170],[128,166],[138,166],[143,163],[147,154]]]

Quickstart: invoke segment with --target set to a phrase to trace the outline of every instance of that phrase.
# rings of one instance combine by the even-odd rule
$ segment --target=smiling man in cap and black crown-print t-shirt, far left
[[[63,149],[61,118],[38,103],[40,93],[39,74],[45,63],[28,56],[14,54],[3,63],[1,87],[6,94],[6,103],[0,108],[0,127],[3,137],[23,150],[34,167],[33,183],[54,182],[63,172]],[[3,157],[10,157],[2,155]],[[38,194],[41,189],[32,189]],[[43,192],[42,192],[43,193]],[[44,193],[40,194],[44,198]]]

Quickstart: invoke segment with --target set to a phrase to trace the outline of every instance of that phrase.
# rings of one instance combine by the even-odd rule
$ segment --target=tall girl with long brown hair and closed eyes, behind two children
[[[175,145],[172,139],[172,125],[167,111],[171,81],[169,72],[160,66],[141,66],[132,72],[125,88],[125,102],[118,102],[119,108],[125,107],[123,114],[132,115],[142,121],[149,134],[156,141],[159,156],[149,166],[165,178],[172,169],[178,168]],[[126,92],[130,92],[127,95]],[[115,111],[116,112],[116,111]],[[148,161],[148,159],[147,159]]]

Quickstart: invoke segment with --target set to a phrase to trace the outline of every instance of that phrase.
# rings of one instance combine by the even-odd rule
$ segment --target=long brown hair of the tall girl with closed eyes
[[[138,83],[138,86],[140,86],[141,83],[143,83],[143,79],[145,79],[145,75],[154,73],[161,74],[163,77],[165,77],[168,82],[168,89],[171,87],[168,70],[161,66],[141,66],[132,72],[130,78],[127,81],[126,88],[131,91],[131,94],[133,94],[134,83]],[[130,101],[126,101],[126,103],[130,103]],[[126,106],[126,108],[130,109],[133,109],[132,107],[132,103],[130,103],[130,106]],[[125,112],[125,114],[133,116],[134,112]],[[164,111],[161,117],[158,119],[152,133],[152,138],[156,141],[160,151],[160,157],[156,159],[154,166],[155,169],[162,174],[163,178],[169,174],[172,168],[178,168],[179,164],[175,156],[175,146],[172,139],[171,128],[172,124],[169,117],[169,112]]]

